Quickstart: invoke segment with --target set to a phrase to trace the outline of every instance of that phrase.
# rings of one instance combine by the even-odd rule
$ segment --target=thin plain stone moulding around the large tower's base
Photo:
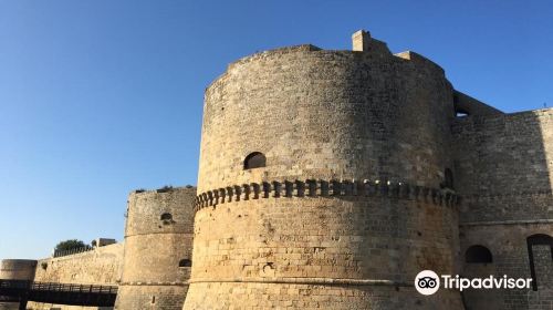
[[[189,283],[293,283],[293,285],[314,285],[314,286],[388,286],[388,287],[413,287],[413,282],[401,282],[380,279],[333,279],[333,278],[253,278],[253,279],[190,279]]]

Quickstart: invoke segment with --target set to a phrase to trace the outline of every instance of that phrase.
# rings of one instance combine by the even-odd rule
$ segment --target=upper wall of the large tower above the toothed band
[[[198,192],[273,179],[390,179],[438,187],[451,166],[452,90],[415,53],[254,54],[206,91]],[[243,170],[252,152],[263,169]]]

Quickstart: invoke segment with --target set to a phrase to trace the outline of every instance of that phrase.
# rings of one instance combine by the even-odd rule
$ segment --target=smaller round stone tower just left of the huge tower
[[[128,197],[123,275],[115,309],[181,309],[190,276],[195,187]]]

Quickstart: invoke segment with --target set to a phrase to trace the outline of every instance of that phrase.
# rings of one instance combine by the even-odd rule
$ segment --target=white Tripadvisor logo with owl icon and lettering
[[[440,282],[445,289],[530,289],[532,279],[509,278],[505,276],[495,278],[461,278],[459,275],[452,277],[441,275],[439,277],[432,270],[422,270],[415,277],[415,288],[421,294],[434,294],[440,289]]]

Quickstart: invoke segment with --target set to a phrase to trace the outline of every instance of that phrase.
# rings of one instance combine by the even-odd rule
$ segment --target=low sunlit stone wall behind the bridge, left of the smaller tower
[[[76,285],[117,286],[123,264],[123,244],[97,247],[93,250],[39,260],[34,281]],[[33,310],[98,309],[41,302],[29,302]]]

